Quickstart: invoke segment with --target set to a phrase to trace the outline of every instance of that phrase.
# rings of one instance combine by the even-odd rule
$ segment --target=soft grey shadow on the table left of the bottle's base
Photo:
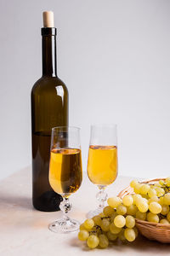
[[[33,210],[31,198],[22,195],[0,195],[0,208],[20,207],[26,210]]]

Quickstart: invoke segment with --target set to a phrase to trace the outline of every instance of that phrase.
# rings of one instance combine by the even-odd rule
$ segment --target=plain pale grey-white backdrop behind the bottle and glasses
[[[0,178],[31,165],[30,92],[42,73],[42,11],[58,28],[70,125],[118,124],[119,173],[170,176],[170,1],[0,1]]]

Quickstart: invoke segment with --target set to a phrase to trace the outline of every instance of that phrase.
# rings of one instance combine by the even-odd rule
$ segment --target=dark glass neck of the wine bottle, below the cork
[[[55,27],[42,27],[42,76],[57,76]]]

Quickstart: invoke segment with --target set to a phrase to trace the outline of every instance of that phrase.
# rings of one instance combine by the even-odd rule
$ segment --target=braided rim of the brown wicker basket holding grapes
[[[152,178],[152,179],[147,179],[147,180],[144,180],[144,181],[140,181],[139,183],[152,183],[152,182],[157,182],[159,180],[165,180],[166,178],[165,177],[157,177],[157,178]],[[127,186],[125,189],[122,189],[121,192],[119,192],[119,194],[117,195],[118,197],[122,198],[124,195],[127,195],[128,193],[130,194],[131,191],[129,190],[132,190],[133,191],[133,188],[131,188],[131,186]],[[160,224],[160,223],[155,223],[155,222],[149,222],[149,221],[146,221],[146,220],[141,220],[139,218],[135,218],[137,224],[140,224],[140,225],[144,225],[144,226],[148,226],[148,228],[165,228],[166,230],[170,230],[170,224]]]

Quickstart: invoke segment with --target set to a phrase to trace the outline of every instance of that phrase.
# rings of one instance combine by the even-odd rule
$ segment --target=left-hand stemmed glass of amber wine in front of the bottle
[[[79,223],[67,216],[71,210],[70,195],[82,183],[82,154],[80,129],[77,127],[54,127],[51,136],[49,183],[56,193],[62,195],[60,209],[63,218],[49,224],[49,230],[68,233],[79,229]]]

